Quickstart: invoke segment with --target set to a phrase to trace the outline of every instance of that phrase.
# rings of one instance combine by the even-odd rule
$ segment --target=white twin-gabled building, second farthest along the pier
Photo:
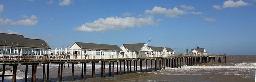
[[[173,56],[174,50],[168,47],[154,47],[154,46],[148,46],[150,49],[152,49],[151,54],[157,55],[157,56]]]

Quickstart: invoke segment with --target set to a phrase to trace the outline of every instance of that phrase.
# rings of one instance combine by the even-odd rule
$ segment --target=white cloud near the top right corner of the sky
[[[222,7],[219,5],[214,5],[213,8],[221,10],[221,9],[225,9],[225,8],[237,8],[237,7],[251,6],[251,5],[252,5],[252,3],[246,3],[242,0],[239,0],[236,2],[234,2],[233,0],[228,0],[223,3]]]

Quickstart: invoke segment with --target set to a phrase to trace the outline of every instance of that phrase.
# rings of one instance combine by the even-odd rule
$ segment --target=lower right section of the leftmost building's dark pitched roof
[[[30,44],[30,47],[32,48],[45,48],[45,49],[51,49],[49,45],[41,39],[31,39],[31,38],[25,38],[27,42]]]

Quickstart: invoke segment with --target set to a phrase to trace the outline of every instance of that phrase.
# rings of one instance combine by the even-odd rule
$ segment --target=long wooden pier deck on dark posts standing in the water
[[[223,57],[223,58],[221,58]],[[184,60],[183,60],[184,59]],[[72,64],[72,81],[75,80],[74,77],[74,69],[75,64],[82,64],[81,68],[81,77],[86,80],[86,63],[92,64],[92,77],[95,78],[95,63],[101,63],[101,76],[105,78],[105,63],[109,63],[109,75],[114,76],[114,63],[116,63],[116,74],[124,74],[125,70],[127,73],[132,72],[132,62],[134,65],[133,72],[138,72],[138,65],[137,61],[140,62],[140,71],[143,72],[143,62],[145,61],[144,68],[145,72],[153,71],[152,68],[152,60],[155,63],[154,70],[164,70],[165,68],[181,68],[184,65],[196,65],[199,63],[209,63],[209,62],[216,62],[216,59],[219,63],[221,63],[221,59],[223,62],[226,63],[226,54],[223,55],[204,55],[204,56],[170,56],[170,57],[142,57],[142,58],[115,58],[115,59],[50,59],[50,60],[0,60],[0,64],[3,65],[3,73],[0,75],[2,77],[2,82],[4,82],[4,77],[12,76],[12,82],[16,81],[16,72],[17,66],[25,65],[25,82],[27,81],[28,76],[28,65],[32,66],[32,75],[31,79],[32,82],[36,81],[36,72],[37,66],[42,66],[43,64],[43,79],[42,81],[46,82],[49,80],[49,66],[52,63],[58,64],[58,81],[62,81],[62,74],[63,74],[63,64],[70,63]],[[177,61],[176,61],[177,60]],[[158,62],[157,62],[158,61]],[[119,63],[120,62],[120,63]],[[122,62],[123,62],[123,69],[122,69]],[[125,62],[127,63],[127,67],[125,67]],[[150,69],[147,68],[147,62],[150,62]],[[111,72],[111,63],[112,63],[112,72]],[[120,65],[120,69],[118,70],[118,63]],[[130,64],[129,64],[130,63]],[[158,63],[158,65],[157,65]],[[6,65],[13,66],[13,73],[12,75],[5,75],[5,68]],[[47,65],[47,68],[46,68]],[[130,65],[130,66],[129,66]],[[158,67],[157,67],[158,66]],[[129,68],[130,67],[130,68]],[[64,66],[65,68],[65,66]],[[123,70],[123,72],[122,72]],[[41,71],[41,70],[40,70]]]

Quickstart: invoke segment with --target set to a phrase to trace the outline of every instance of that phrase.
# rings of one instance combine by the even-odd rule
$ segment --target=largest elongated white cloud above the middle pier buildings
[[[155,25],[151,18],[136,17],[107,17],[99,18],[94,22],[87,22],[82,26],[75,27],[75,31],[107,31],[107,30],[124,30],[134,27],[144,27],[147,25]]]

